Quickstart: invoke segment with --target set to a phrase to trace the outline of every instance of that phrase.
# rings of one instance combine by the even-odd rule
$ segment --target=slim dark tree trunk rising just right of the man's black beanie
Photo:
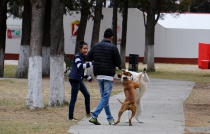
[[[112,30],[114,33],[112,43],[115,45],[117,45],[117,7],[118,7],[118,4],[115,0],[114,5],[113,5],[113,18],[112,18]]]

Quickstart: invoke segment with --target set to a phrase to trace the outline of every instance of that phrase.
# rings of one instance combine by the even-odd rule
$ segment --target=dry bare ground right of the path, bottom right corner
[[[186,127],[210,127],[210,83],[196,83],[190,96],[184,102],[184,111]],[[186,130],[186,134],[193,133],[199,132]]]

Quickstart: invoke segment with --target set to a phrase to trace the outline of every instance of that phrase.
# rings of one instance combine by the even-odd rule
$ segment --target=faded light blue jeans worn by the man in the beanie
[[[113,120],[113,117],[111,115],[111,111],[109,108],[109,97],[112,92],[113,81],[98,80],[98,85],[100,88],[101,101],[99,102],[95,111],[92,113],[92,117],[98,118],[98,115],[101,113],[101,111],[104,108],[106,116],[107,116],[107,120],[108,122],[110,122]]]

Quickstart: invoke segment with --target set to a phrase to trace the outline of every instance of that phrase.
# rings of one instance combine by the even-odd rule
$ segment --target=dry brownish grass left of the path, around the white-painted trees
[[[30,133],[30,134],[64,134],[70,126],[77,122],[68,120],[68,105],[60,107],[48,107],[49,78],[42,81],[44,109],[30,110],[26,107],[27,79],[6,79],[0,81],[0,134],[6,133]],[[100,95],[97,81],[85,82],[91,94],[91,109],[97,106]],[[70,100],[70,84],[65,80],[66,100]],[[120,82],[114,82],[113,94],[122,91]],[[84,97],[78,94],[75,117],[85,117]]]

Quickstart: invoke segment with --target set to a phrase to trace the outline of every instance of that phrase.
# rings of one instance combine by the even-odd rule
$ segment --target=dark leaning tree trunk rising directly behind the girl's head
[[[79,52],[79,42],[84,40],[85,37],[85,31],[87,26],[87,20],[88,20],[88,14],[89,14],[89,6],[88,6],[88,0],[81,0],[82,3],[82,9],[81,9],[81,17],[80,17],[80,24],[77,32],[77,39],[75,44],[75,54]]]

